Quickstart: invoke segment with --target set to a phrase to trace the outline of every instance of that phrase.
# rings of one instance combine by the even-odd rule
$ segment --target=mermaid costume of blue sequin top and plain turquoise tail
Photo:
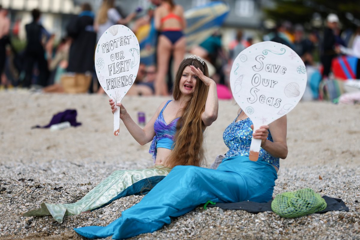
[[[188,213],[207,201],[264,203],[271,200],[277,179],[274,166],[279,167],[279,158],[261,149],[257,162],[249,160],[252,122],[249,118],[235,120],[224,132],[229,151],[217,169],[176,166],[138,204],[123,211],[121,217],[108,226],[74,230],[92,239],[108,236],[126,239],[156,231],[165,223],[170,224],[170,217]],[[270,133],[268,140],[272,141]]]

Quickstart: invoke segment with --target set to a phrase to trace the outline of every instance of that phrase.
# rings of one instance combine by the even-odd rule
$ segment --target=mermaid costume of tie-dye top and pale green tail
[[[166,124],[163,110],[171,100],[168,100],[154,123],[156,135],[150,146],[149,153],[153,154],[155,163],[157,148],[172,149],[176,133],[176,123],[179,118]],[[30,210],[24,216],[53,216],[62,223],[64,216],[72,216],[81,212],[98,209],[110,204],[113,200],[134,194],[145,194],[161,181],[171,168],[155,166],[139,170],[118,170],[113,172],[99,185],[76,203],[50,204],[41,203],[41,208]]]

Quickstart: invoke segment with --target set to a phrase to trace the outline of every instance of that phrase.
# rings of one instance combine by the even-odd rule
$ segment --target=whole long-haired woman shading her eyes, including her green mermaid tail
[[[145,193],[178,165],[202,166],[204,160],[203,131],[217,118],[216,83],[208,77],[206,63],[196,56],[181,62],[175,76],[174,100],[163,102],[142,129],[121,103],[120,118],[127,130],[144,145],[152,141],[149,153],[155,166],[139,170],[118,170],[112,173],[81,200],[71,204],[42,203],[41,208],[24,216],[51,215],[58,222],[103,207],[111,201],[132,194]],[[112,112],[115,103],[109,100]]]

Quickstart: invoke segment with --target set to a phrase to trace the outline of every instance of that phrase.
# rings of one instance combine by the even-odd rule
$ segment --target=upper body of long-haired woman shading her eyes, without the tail
[[[206,63],[196,56],[181,62],[176,72],[174,100],[163,102],[154,116],[141,129],[121,103],[120,118],[139,144],[152,141],[150,153],[155,164],[201,166],[203,134],[217,118],[215,82],[208,77]],[[110,101],[113,112],[116,106]],[[174,142],[175,140],[175,142]]]

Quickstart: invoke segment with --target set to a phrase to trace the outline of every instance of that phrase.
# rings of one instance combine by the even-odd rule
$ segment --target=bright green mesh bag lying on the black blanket
[[[271,203],[274,213],[288,218],[305,216],[325,208],[325,200],[310,188],[278,194]]]

